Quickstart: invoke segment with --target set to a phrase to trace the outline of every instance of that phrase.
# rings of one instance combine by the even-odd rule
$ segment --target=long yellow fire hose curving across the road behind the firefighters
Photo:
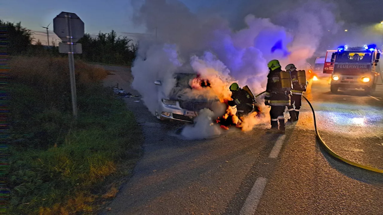
[[[257,96],[255,97],[258,97],[260,96],[261,94],[265,93],[266,91],[263,91],[262,93],[258,94]],[[326,151],[331,155],[333,156],[334,158],[337,158],[345,163],[348,163],[349,165],[352,165],[352,166],[356,166],[358,168],[362,168],[362,169],[367,169],[367,170],[370,170],[370,171],[374,171],[374,172],[377,172],[377,173],[383,173],[383,169],[378,169],[378,168],[374,168],[374,167],[371,167],[371,166],[367,166],[367,165],[362,165],[362,164],[359,164],[359,163],[355,163],[354,161],[350,161],[346,158],[343,158],[342,156],[338,155],[337,153],[335,153],[334,151],[332,151],[327,145],[326,143],[324,142],[324,140],[322,139],[321,135],[319,134],[319,131],[317,129],[317,126],[316,126],[316,117],[315,117],[315,111],[314,111],[314,108],[313,106],[311,105],[311,103],[309,102],[309,100],[304,96],[302,95],[302,97],[307,101],[307,103],[309,104],[310,108],[311,108],[311,111],[313,111],[313,117],[314,117],[314,128],[315,128],[315,133],[316,133],[316,137],[318,138],[319,140],[319,143],[322,144],[322,146],[326,149]]]

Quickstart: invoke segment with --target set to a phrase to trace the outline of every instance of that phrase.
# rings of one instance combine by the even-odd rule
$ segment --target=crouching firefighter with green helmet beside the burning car
[[[237,83],[230,85],[231,98],[228,101],[229,106],[237,106],[237,116],[245,116],[253,111],[256,101],[247,93],[246,90],[239,87]]]

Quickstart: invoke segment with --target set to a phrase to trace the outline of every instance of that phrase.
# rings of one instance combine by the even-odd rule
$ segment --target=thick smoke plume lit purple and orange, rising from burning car
[[[331,13],[332,5],[319,0],[297,4],[294,11],[273,12],[271,18],[249,14],[244,18],[246,27],[237,31],[218,13],[192,13],[178,0],[132,0],[132,5],[137,11],[136,23],[144,24],[148,33],[157,31],[156,38],[139,41],[132,67],[133,87],[153,114],[161,98],[168,96],[174,86],[172,74],[182,68],[190,67],[211,84],[206,89],[191,90],[190,94],[224,102],[230,99],[229,86],[233,82],[241,87],[248,85],[258,94],[265,90],[268,61],[278,59],[283,68],[294,63],[299,69],[313,57],[327,29],[336,31],[339,25]],[[161,87],[154,85],[156,80],[162,81]],[[258,100],[262,103],[262,99]],[[216,127],[209,130],[201,125],[214,115],[202,111],[194,127],[185,129],[183,135],[195,134],[195,129],[208,130],[208,134],[201,133],[204,137],[218,134]],[[242,130],[251,130],[262,121],[249,118],[252,120],[245,121]]]

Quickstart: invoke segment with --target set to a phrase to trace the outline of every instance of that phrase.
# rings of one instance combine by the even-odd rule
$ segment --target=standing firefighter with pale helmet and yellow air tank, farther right
[[[294,122],[298,120],[299,111],[302,105],[302,93],[306,91],[307,81],[304,70],[296,70],[294,64],[289,64],[286,66],[286,71],[290,71],[291,82],[293,88],[291,90],[291,104],[288,106],[288,112],[290,113],[289,122]],[[295,108],[294,108],[295,106]]]

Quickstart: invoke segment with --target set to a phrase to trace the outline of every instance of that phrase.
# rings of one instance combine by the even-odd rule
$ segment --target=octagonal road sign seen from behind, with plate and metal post
[[[73,116],[77,118],[74,54],[81,54],[82,46],[74,42],[84,36],[84,23],[75,13],[61,12],[53,19],[53,31],[63,41],[59,44],[59,52],[68,54]]]

